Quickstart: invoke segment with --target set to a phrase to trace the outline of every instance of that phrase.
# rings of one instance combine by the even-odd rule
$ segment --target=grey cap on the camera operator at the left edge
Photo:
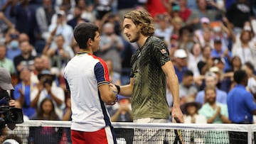
[[[2,67],[0,67],[0,87],[4,90],[14,89],[11,84],[11,74]]]

